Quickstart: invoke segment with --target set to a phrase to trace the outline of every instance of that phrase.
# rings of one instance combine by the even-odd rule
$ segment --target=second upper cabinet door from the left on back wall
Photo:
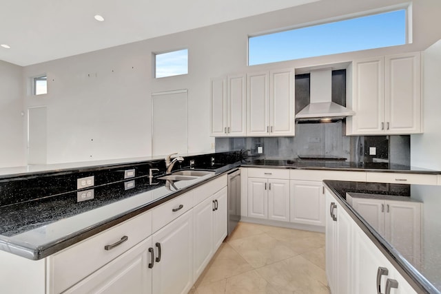
[[[244,74],[228,76],[227,136],[247,135],[247,96]]]

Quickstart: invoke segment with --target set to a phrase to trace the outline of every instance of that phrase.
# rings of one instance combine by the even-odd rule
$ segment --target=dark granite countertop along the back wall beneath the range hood
[[[296,159],[265,159],[249,158],[243,167],[269,167],[289,169],[320,169],[336,171],[371,171],[371,172],[400,172],[410,174],[441,174],[441,171],[397,165],[387,162],[349,162],[342,160],[299,160]]]

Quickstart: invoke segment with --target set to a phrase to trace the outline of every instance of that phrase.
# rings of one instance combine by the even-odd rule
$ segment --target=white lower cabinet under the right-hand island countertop
[[[416,293],[336,198],[329,191],[325,194],[326,274],[331,293]]]

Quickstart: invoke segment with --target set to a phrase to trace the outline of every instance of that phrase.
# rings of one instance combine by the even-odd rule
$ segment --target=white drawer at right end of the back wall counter
[[[436,185],[436,175],[400,174],[400,173],[366,173],[368,182],[391,182],[396,184]]]

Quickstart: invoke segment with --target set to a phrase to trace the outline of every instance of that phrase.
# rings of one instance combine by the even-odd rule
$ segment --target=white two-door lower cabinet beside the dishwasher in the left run
[[[194,207],[194,280],[227,236],[227,187]]]

